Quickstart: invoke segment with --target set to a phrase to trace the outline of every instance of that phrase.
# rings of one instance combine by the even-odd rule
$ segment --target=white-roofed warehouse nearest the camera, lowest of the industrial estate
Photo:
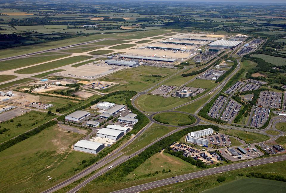
[[[97,143],[94,141],[80,140],[74,144],[74,150],[87,152],[87,153],[98,153],[104,148],[104,144]]]

